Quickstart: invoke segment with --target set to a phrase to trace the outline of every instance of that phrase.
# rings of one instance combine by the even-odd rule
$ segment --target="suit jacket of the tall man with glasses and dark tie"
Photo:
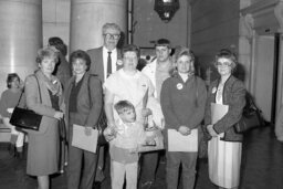
[[[92,49],[87,51],[87,54],[91,56],[91,69],[90,72],[92,74],[98,75],[99,80],[104,82],[104,64],[103,64],[103,46],[97,48],[97,49]],[[122,60],[122,52],[119,49],[117,49],[117,59]],[[117,70],[122,69],[123,65],[117,64],[116,62]]]

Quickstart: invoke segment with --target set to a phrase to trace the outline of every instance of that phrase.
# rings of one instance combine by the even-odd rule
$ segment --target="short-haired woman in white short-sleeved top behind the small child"
[[[149,112],[145,108],[147,98],[153,96],[154,93],[150,80],[136,69],[139,57],[138,48],[133,44],[126,45],[123,48],[122,55],[123,69],[112,74],[104,84],[105,113],[108,127],[114,128],[116,127],[115,122],[118,120],[118,115],[114,111],[114,104],[119,101],[129,101],[135,106],[136,120],[143,123],[144,116]],[[109,140],[113,139],[111,136],[106,137]],[[113,177],[113,174],[111,175]]]

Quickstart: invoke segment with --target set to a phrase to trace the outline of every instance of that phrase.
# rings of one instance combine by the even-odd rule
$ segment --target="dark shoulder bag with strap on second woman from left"
[[[87,87],[88,87],[88,98],[90,98],[90,102],[92,102],[92,96],[91,96],[91,88],[90,88],[90,80],[91,80],[91,76],[88,77],[88,81],[87,81]],[[99,115],[99,118],[98,118],[98,122],[97,122],[97,126],[95,127],[97,130],[98,130],[98,139],[97,139],[97,145],[98,146],[104,146],[104,145],[107,145],[107,141],[103,135],[103,132],[104,129],[107,127],[107,119],[106,119],[106,115],[105,115],[105,112],[104,112],[104,108],[102,109],[101,112],[101,115]]]

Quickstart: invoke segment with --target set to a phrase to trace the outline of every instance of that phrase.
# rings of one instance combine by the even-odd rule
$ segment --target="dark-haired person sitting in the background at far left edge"
[[[15,127],[10,124],[11,112],[14,106],[17,106],[19,103],[20,106],[24,104],[21,80],[17,73],[8,74],[7,87],[8,90],[2,93],[0,99],[0,114],[2,115],[4,125],[11,129],[11,144],[9,146],[9,153],[14,157],[22,158],[24,134],[17,130]]]

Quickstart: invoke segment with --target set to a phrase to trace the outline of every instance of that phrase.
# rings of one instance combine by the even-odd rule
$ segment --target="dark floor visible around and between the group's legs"
[[[25,159],[11,158],[0,145],[0,189],[35,189],[35,178],[25,175]],[[283,144],[272,127],[245,134],[240,189],[283,189]],[[52,189],[66,189],[65,174],[52,177]],[[165,164],[159,164],[154,189],[165,188]],[[181,188],[181,187],[179,187]],[[216,189],[208,178],[206,159],[199,160],[196,189]],[[111,189],[107,177],[102,189]]]

